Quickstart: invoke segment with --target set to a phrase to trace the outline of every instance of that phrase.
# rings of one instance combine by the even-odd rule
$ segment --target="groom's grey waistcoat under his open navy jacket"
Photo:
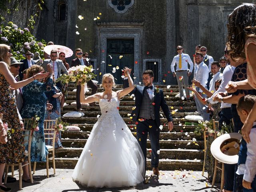
[[[148,92],[147,90],[145,90],[144,96],[142,99],[142,104],[140,106],[140,113],[139,113],[140,118],[153,119],[153,120],[156,119],[154,105],[152,105],[153,102],[154,102],[154,98],[150,100]]]

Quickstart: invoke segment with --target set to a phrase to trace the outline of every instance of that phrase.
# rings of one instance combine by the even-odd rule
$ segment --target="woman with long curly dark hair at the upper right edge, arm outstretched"
[[[248,80],[230,83],[227,90],[256,89],[256,4],[243,3],[228,16],[228,41],[230,41],[230,55],[232,59],[246,58]],[[233,91],[232,91],[233,92]],[[242,135],[250,142],[250,130],[256,121],[256,104],[244,122]]]

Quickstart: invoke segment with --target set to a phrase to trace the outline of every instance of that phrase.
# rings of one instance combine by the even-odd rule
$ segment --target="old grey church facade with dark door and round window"
[[[228,14],[241,0],[44,0],[36,36],[88,52],[100,74],[122,83],[132,68],[135,84],[151,69],[155,84],[176,84],[170,72],[176,47],[193,60],[196,45],[219,60],[224,54]],[[247,2],[255,3],[255,0]],[[71,63],[72,56],[68,59]],[[119,67],[116,68],[116,66]],[[116,70],[113,70],[116,68]],[[115,72],[114,72],[115,71]]]

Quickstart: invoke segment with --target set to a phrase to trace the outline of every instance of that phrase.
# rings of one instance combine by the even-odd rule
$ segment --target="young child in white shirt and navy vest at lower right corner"
[[[236,109],[243,123],[255,103],[255,95],[246,95],[239,99]],[[256,192],[256,122],[253,123],[249,137],[251,142],[248,144],[242,138],[236,174],[244,174],[242,183],[244,192]]]

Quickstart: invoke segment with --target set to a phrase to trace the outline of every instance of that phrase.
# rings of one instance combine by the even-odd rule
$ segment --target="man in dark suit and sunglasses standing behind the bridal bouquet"
[[[82,55],[83,55],[82,49],[77,48],[76,49],[76,58],[74,60],[72,60],[71,67],[75,67],[78,65],[86,65],[86,66],[89,65],[88,61],[85,58],[83,58]],[[94,82],[92,80],[87,82],[87,86],[89,88],[92,88],[92,95],[97,92],[98,87],[94,84]],[[76,86],[76,108],[79,111],[83,110],[81,108],[81,103],[80,103],[80,91],[81,91],[81,85],[77,85]],[[90,105],[95,105],[95,103],[90,103]]]

